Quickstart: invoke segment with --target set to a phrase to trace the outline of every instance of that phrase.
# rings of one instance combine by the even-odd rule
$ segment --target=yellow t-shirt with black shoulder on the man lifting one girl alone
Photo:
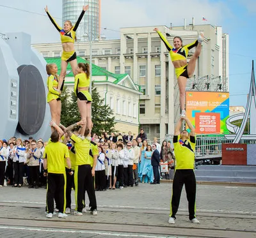
[[[190,136],[188,140],[180,140],[180,135],[173,137],[176,165],[175,169],[195,168],[195,146],[196,138]]]

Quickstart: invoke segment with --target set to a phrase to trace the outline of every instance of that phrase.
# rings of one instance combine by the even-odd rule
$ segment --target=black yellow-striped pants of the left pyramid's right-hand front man
[[[104,176],[105,176],[105,170]],[[95,172],[96,174],[96,172]],[[105,177],[104,177],[105,178]],[[76,191],[76,207],[78,212],[82,212],[84,207],[84,194],[87,191],[89,201],[90,201],[90,210],[93,211],[97,209],[97,202],[95,197],[95,190],[93,186],[93,177],[92,177],[92,167],[91,165],[78,165],[75,168],[74,174],[75,181],[75,191]]]

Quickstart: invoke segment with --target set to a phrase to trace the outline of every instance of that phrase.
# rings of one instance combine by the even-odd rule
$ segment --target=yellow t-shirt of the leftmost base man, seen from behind
[[[48,173],[65,174],[66,158],[69,158],[67,145],[51,142],[46,145],[44,158],[47,159]]]

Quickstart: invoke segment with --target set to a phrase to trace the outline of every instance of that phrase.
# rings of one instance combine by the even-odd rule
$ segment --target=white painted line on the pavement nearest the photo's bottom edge
[[[28,228],[28,227],[7,227],[7,226],[0,226],[0,229],[10,229],[10,230],[29,230],[29,231],[37,231],[37,232],[59,232],[59,233],[81,233],[81,234],[96,234],[96,235],[115,235],[115,236],[122,236],[122,237],[143,237],[143,238],[177,238],[177,237],[170,237],[170,236],[152,236],[152,235],[136,235],[136,234],[121,234],[121,233],[111,233],[111,232],[90,232],[90,231],[75,231],[75,230],[54,230],[54,229],[40,229],[40,228]]]

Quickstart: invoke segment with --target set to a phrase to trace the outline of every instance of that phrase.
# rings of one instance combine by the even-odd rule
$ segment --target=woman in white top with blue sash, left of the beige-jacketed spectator
[[[14,157],[13,157],[13,168],[14,168],[14,184],[13,187],[21,187],[23,183],[23,167],[26,159],[24,154],[26,148],[22,146],[22,140],[17,138],[16,145],[14,147]]]

